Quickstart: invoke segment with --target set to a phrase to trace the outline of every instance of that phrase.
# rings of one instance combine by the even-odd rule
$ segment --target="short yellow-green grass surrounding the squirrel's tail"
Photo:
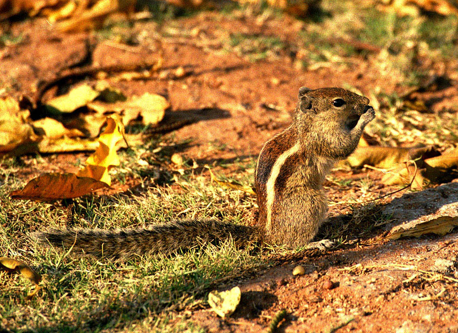
[[[136,168],[137,149],[144,150],[145,146],[121,152],[123,168]],[[167,160],[169,155],[162,158]],[[47,159],[42,163],[48,163]],[[195,324],[177,321],[170,311],[194,302],[205,303],[206,291],[214,280],[260,263],[257,255],[237,249],[230,240],[218,246],[203,245],[201,250],[168,257],[132,258],[125,263],[74,258],[59,249],[37,245],[28,235],[36,230],[64,227],[66,212],[59,205],[8,197],[11,190],[25,184],[15,172],[23,165],[33,164],[33,160],[22,157],[2,162],[0,256],[30,264],[43,275],[44,288],[28,301],[25,297],[33,289],[32,284],[18,274],[0,271],[0,321],[6,328],[129,331],[154,326],[158,331],[202,331]],[[251,163],[250,160],[248,166]],[[246,163],[243,165],[246,167]],[[142,227],[176,218],[249,222],[247,213],[253,209],[253,197],[223,190],[211,183],[208,175],[194,173],[190,167],[185,169],[183,175],[174,173],[177,181],[173,188],[145,180],[148,185],[140,194],[75,199],[74,226]]]

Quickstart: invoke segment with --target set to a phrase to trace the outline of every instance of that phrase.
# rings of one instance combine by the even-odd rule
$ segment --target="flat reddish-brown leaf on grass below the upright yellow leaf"
[[[12,199],[53,201],[76,198],[100,188],[108,187],[94,178],[74,173],[45,173],[31,180],[22,190],[10,193]]]

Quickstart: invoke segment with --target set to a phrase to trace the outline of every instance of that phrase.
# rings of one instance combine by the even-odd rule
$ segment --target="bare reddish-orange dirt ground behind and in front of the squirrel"
[[[284,21],[273,20],[257,25],[254,19],[226,19],[218,13],[180,19],[178,28],[198,29],[199,36],[205,36],[205,43],[197,43],[179,37],[158,40],[154,37],[158,29],[156,23],[139,22],[133,31],[146,31],[153,37],[146,38],[139,45],[126,47],[101,41],[92,58],[93,65],[104,66],[148,62],[161,56],[163,68],[183,66],[190,71],[183,78],[160,79],[159,73],[151,80],[110,84],[128,96],[144,92],[167,96],[172,106],[167,115],[170,119],[189,115],[193,123],[178,129],[175,139],[193,138],[184,153],[199,165],[215,159],[256,155],[263,143],[291,120],[301,86],[319,88],[350,83],[363,93],[377,86],[387,92],[403,89],[396,86],[393,78],[380,77],[363,61],[355,63],[351,69],[322,68],[307,72],[294,65],[288,52],[280,53],[273,60],[255,63],[231,52],[223,53],[218,36],[213,34],[216,20],[227,31],[276,34],[286,42],[294,39],[304,24],[287,17]],[[52,78],[71,63],[83,59],[85,41],[90,36],[86,33],[55,33],[44,19],[14,23],[11,31],[12,34],[24,34],[24,41],[0,49],[0,77],[3,86],[8,87],[8,94],[16,97],[34,95],[37,82]],[[195,40],[202,41],[203,38]],[[44,99],[53,93],[54,90],[49,91]],[[433,110],[455,105],[458,101],[456,87],[436,95],[427,94],[425,98],[428,100],[439,96],[431,106]],[[215,149],[215,143],[226,146]],[[70,164],[71,161],[74,161],[74,155],[72,159],[58,155],[52,163],[31,166],[24,178],[45,171],[74,171],[76,167]],[[373,172],[349,172],[346,177],[367,175],[377,181],[378,176]],[[331,183],[326,185],[330,188],[330,199],[334,201],[356,191],[333,188]],[[331,223],[340,214],[347,213],[346,210],[331,209]],[[390,266],[414,265],[419,270],[436,271],[440,270],[435,266],[436,260],[444,259],[452,264],[441,274],[458,278],[456,232],[444,237],[382,241],[384,233],[382,230],[365,235],[360,243],[301,263],[306,270],[303,276],[292,276],[292,269],[298,264],[294,263],[267,269],[254,278],[241,281],[238,285],[243,292],[242,301],[230,318],[223,320],[210,310],[198,310],[189,319],[211,332],[259,332],[269,325],[278,311],[287,309],[288,315],[281,322],[279,331],[336,331],[338,325],[351,318],[354,320],[339,328],[339,332],[458,331],[456,283],[443,275]],[[355,268],[356,264],[361,267]],[[327,288],[327,281],[332,281],[331,289]],[[232,285],[227,286],[230,287]]]

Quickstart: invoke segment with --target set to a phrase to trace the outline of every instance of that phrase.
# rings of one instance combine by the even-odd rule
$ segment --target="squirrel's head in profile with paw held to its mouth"
[[[301,87],[294,117],[300,140],[320,155],[347,157],[364,126],[374,119],[368,104],[368,98],[346,89]]]

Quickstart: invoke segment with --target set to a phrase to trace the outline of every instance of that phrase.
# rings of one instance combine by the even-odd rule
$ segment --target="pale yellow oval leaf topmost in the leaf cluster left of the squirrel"
[[[54,97],[47,101],[47,105],[61,112],[69,113],[77,108],[87,105],[93,101],[99,92],[88,84],[82,84],[72,88],[68,93]]]

